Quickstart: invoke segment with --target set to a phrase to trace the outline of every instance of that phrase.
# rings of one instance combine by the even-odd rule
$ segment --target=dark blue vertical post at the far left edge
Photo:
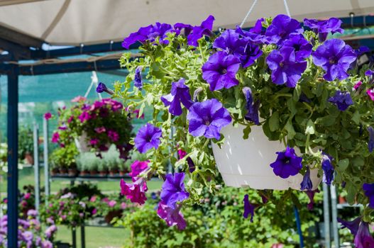
[[[18,67],[8,74],[8,247],[18,247]]]

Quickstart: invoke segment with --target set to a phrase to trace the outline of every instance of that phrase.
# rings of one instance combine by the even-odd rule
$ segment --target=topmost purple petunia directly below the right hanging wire
[[[286,15],[277,15],[265,32],[265,35],[271,37],[271,43],[281,43],[286,40],[292,33],[302,33],[300,23]]]

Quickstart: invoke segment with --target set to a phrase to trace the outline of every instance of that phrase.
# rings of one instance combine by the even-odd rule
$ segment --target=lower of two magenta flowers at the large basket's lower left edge
[[[145,192],[148,190],[147,184],[143,179],[138,179],[138,181],[133,184],[127,184],[126,181],[121,179],[121,194],[130,199],[132,203],[144,204],[147,197]]]

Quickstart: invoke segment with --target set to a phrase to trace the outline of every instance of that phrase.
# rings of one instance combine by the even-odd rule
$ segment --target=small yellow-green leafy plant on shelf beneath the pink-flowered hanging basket
[[[55,149],[50,155],[50,163],[53,168],[76,168],[76,157],[79,154],[74,143]]]

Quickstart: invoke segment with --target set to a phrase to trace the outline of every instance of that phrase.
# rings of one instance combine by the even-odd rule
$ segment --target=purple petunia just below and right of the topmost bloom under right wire
[[[283,41],[283,47],[293,47],[295,49],[295,60],[303,62],[312,54],[312,44],[310,44],[302,34],[292,34],[288,40]]]

